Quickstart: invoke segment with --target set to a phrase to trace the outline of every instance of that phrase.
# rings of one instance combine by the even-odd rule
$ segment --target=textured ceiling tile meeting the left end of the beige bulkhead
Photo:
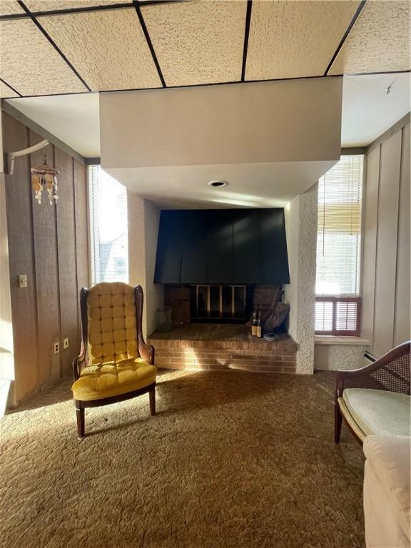
[[[134,8],[39,21],[93,91],[161,87]]]

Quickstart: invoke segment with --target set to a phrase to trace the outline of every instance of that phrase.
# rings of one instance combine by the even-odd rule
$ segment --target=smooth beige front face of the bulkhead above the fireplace
[[[101,93],[101,163],[337,160],[341,103],[342,78]]]

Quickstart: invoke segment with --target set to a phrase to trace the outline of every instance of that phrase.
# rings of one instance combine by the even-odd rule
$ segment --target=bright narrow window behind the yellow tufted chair
[[[128,223],[126,188],[101,169],[91,166],[90,188],[91,282],[128,283]]]

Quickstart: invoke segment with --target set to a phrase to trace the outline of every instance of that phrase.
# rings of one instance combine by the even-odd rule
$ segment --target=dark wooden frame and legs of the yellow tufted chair
[[[143,360],[146,360],[151,365],[154,365],[154,347],[148,345],[143,337],[143,288],[141,285],[137,285],[134,288],[136,295],[136,323],[137,323],[137,338],[138,338],[138,354]],[[80,373],[86,366],[86,352],[88,347],[88,315],[87,315],[87,298],[88,289],[83,288],[80,292],[80,310],[81,310],[81,349],[78,357],[73,360],[73,377],[74,381],[80,377]],[[85,409],[86,407],[100,407],[101,405],[109,405],[111,403],[123,402],[131,397],[140,396],[146,394],[150,397],[150,413],[156,414],[156,382],[151,385],[141,388],[140,390],[133,390],[133,392],[126,392],[112,397],[103,397],[101,400],[74,400],[76,405],[76,417],[77,417],[77,432],[78,439],[82,439],[85,436]]]

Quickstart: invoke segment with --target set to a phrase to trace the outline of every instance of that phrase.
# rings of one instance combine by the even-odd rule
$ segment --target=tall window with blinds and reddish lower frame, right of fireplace
[[[362,156],[342,156],[318,183],[315,331],[358,335]]]

